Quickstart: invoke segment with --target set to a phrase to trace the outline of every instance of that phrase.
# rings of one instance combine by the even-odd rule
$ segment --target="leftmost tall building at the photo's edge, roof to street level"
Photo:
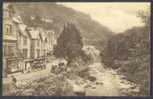
[[[3,11],[3,74],[20,71],[22,58],[17,49],[17,25],[14,24],[12,17],[13,8],[8,4]]]

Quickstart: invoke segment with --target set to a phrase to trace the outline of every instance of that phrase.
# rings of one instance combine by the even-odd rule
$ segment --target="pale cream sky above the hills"
[[[115,33],[123,32],[143,23],[137,17],[138,11],[149,11],[150,3],[59,3],[66,7],[89,14],[92,19],[110,28]]]

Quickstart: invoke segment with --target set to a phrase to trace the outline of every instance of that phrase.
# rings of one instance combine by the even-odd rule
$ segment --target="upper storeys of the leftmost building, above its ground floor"
[[[9,5],[8,5],[9,6]],[[3,17],[3,48],[4,56],[15,57],[14,51],[16,49],[17,31],[16,26],[13,25],[12,12],[7,7],[4,8]]]

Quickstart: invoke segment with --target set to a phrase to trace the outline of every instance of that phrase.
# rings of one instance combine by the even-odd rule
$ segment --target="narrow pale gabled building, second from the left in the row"
[[[14,23],[17,25],[17,50],[21,53],[23,64],[21,65],[22,71],[28,70],[28,65],[31,60],[31,39],[27,31],[27,26],[23,23],[20,16],[13,18]]]

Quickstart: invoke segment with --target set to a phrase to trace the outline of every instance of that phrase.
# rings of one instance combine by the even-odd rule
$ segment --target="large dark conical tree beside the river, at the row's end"
[[[66,58],[68,61],[82,55],[83,43],[80,31],[72,23],[64,25],[64,29],[57,39],[54,55],[57,58]]]

